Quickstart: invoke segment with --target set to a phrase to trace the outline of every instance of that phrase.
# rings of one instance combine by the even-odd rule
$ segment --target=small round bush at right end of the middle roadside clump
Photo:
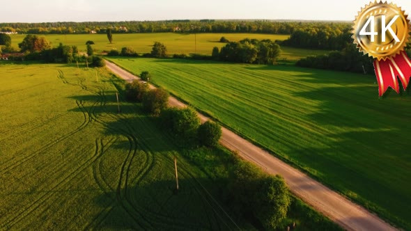
[[[215,147],[222,137],[222,127],[216,122],[206,121],[198,130],[199,142],[208,147]]]

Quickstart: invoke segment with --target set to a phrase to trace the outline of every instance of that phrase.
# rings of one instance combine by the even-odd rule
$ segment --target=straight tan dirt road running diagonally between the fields
[[[123,70],[118,65],[109,61],[105,62],[109,70],[118,77],[126,81],[138,79],[134,74]],[[150,88],[155,87],[150,85]],[[186,106],[175,97],[169,98],[169,104],[177,107]],[[201,122],[208,120],[206,116],[200,113],[199,117]],[[279,174],[284,177],[290,191],[346,230],[396,230],[396,228],[382,221],[375,214],[356,205],[339,193],[332,191],[327,186],[313,180],[300,170],[289,166],[284,161],[258,148],[224,127],[222,128],[222,139],[220,142],[229,150],[238,152],[240,157],[261,166],[267,173]]]

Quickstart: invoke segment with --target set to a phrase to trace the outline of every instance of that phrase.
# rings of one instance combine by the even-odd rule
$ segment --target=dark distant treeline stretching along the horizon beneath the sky
[[[67,33],[272,33],[291,34],[295,31],[345,31],[350,24],[343,22],[272,22],[256,21],[216,21],[169,20],[146,22],[44,22],[44,23],[0,23],[0,31],[33,34]]]

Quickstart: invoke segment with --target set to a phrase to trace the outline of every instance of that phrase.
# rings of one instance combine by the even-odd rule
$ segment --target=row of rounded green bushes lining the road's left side
[[[149,75],[142,72],[141,75]],[[150,90],[147,83],[134,80],[125,86],[127,99],[141,102],[143,109],[158,116],[162,129],[169,132],[178,145],[214,148],[222,136],[222,128],[215,122],[201,125],[191,107],[168,108],[169,94],[162,88]],[[224,190],[226,205],[238,218],[252,221],[266,230],[278,228],[290,207],[290,193],[284,179],[272,176],[253,164],[234,158],[229,167],[229,184]]]

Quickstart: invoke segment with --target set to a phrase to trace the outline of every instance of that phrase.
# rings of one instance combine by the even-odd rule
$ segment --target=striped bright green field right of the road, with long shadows
[[[110,58],[406,229],[411,98],[374,77],[178,59]]]

